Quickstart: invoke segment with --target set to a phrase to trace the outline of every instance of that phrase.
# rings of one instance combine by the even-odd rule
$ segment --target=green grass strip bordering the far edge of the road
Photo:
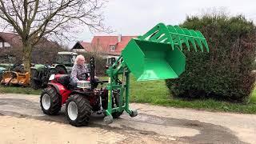
[[[106,79],[106,78],[102,78]],[[41,90],[21,87],[0,86],[0,93],[40,94]],[[130,102],[150,103],[153,105],[192,108],[196,110],[228,111],[235,113],[256,114],[256,89],[249,104],[220,102],[214,99],[188,101],[172,98],[164,81],[135,82],[130,78]]]

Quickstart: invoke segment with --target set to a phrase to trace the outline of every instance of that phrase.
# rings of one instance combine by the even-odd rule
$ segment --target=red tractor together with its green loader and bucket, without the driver
[[[123,111],[135,117],[136,110],[130,110],[130,74],[137,81],[178,78],[185,70],[186,58],[182,46],[190,50],[209,51],[206,38],[201,32],[179,26],[166,26],[159,23],[146,34],[132,38],[122,50],[121,56],[111,62],[106,70],[109,79],[100,81],[94,77],[94,58],[90,59],[90,76],[70,86],[68,74],[50,77],[46,89],[42,90],[40,103],[45,114],[58,114],[66,104],[66,118],[73,126],[84,126],[90,115],[105,114],[106,123],[113,122]],[[107,82],[106,86],[100,86]]]

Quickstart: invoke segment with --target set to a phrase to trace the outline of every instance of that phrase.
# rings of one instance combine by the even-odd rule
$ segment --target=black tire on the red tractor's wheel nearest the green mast
[[[77,106],[78,115],[76,118],[70,118],[68,107],[70,102]],[[80,94],[74,94],[68,98],[66,102],[66,118],[72,126],[86,126],[90,121],[92,114],[92,106],[90,102]],[[72,120],[73,119],[73,120]]]

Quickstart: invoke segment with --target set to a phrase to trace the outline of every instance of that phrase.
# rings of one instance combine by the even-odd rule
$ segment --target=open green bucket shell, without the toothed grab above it
[[[179,49],[158,42],[133,39],[122,58],[138,81],[178,78],[185,68],[185,56]]]

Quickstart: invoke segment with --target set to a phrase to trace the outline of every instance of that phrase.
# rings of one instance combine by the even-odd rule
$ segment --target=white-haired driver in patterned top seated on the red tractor
[[[78,55],[77,58],[75,58],[74,66],[72,67],[72,71],[70,74],[70,85],[71,86],[77,86],[78,81],[86,80],[88,69],[85,66],[85,58],[83,55]],[[88,75],[87,75],[88,76]]]

